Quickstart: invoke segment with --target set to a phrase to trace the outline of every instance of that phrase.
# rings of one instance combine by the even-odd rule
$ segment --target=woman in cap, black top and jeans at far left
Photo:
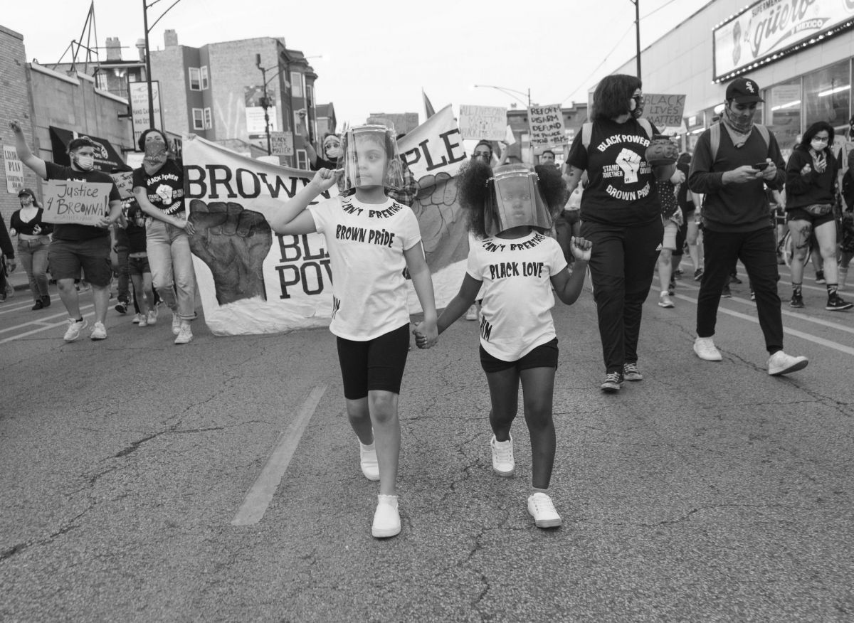
[[[42,222],[44,209],[38,205],[36,194],[31,189],[18,193],[20,210],[12,213],[9,226],[18,236],[20,264],[30,281],[30,292],[35,300],[32,310],[50,307],[48,292],[48,248],[53,225]]]

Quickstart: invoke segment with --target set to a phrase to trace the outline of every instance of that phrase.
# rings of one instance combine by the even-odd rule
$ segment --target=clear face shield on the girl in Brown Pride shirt
[[[385,125],[357,125],[344,133],[338,168],[341,191],[368,186],[403,189],[403,164],[395,131]]]

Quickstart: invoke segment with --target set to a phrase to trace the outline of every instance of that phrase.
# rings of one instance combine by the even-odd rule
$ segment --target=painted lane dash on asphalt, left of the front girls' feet
[[[308,421],[314,415],[320,399],[326,392],[325,385],[313,387],[296,412],[294,422],[278,438],[276,449],[272,451],[264,469],[252,488],[243,498],[243,505],[231,520],[232,526],[251,526],[258,523],[264,516],[267,506],[270,505],[273,495],[282,481],[285,470],[288,469],[290,459],[294,457],[296,446],[300,443],[303,432],[306,430]]]

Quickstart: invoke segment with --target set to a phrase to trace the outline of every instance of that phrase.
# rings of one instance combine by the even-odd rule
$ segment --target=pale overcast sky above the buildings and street
[[[148,0],[149,24],[174,2]],[[640,43],[646,48],[709,0],[639,2]],[[24,35],[27,60],[50,65],[72,39],[79,40],[90,3],[3,0],[0,25]],[[436,109],[448,103],[509,107],[514,96],[524,106],[528,89],[535,103],[586,102],[588,87],[635,54],[631,0],[434,0],[418,3],[418,9],[410,4],[179,0],[154,26],[150,43],[162,49],[167,28],[178,32],[179,44],[193,47],[284,37],[289,48],[319,56],[309,60],[319,75],[317,101],[333,102],[339,122],[351,123],[375,112],[417,112],[423,121],[422,88]],[[143,0],[95,0],[95,26],[98,45],[118,37],[126,46],[123,58],[137,58]],[[654,91],[655,85],[644,88]]]

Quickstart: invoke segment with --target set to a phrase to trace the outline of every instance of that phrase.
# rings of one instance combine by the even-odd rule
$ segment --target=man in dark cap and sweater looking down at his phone
[[[758,102],[764,100],[752,79],[729,83],[719,126],[703,132],[691,161],[688,188],[705,194],[701,212],[705,272],[693,349],[705,361],[722,360],[712,340],[717,306],[729,272],[740,259],[756,294],[759,326],[770,355],[768,373],[778,376],[802,370],[809,362],[783,352],[776,243],[765,187],[782,189],[786,164],[773,132],[754,125]]]

